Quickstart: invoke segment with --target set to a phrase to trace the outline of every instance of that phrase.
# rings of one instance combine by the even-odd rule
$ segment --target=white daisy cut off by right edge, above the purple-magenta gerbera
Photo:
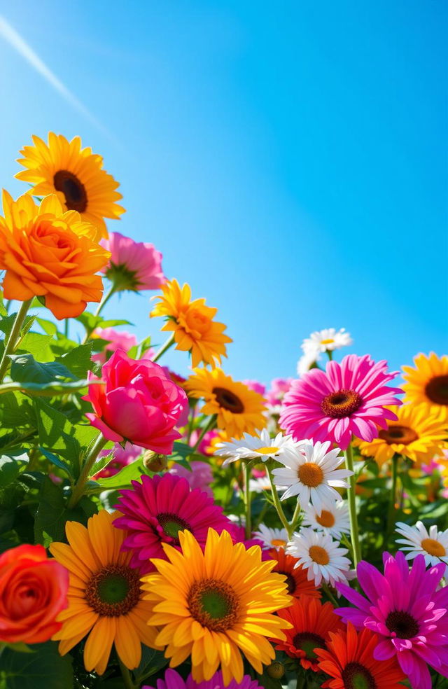
[[[402,544],[400,550],[409,551],[406,559],[424,555],[427,567],[443,562],[447,565],[445,576],[448,575],[448,529],[437,531],[433,524],[428,531],[422,522],[416,522],[414,527],[409,527],[404,522],[397,522],[395,526],[397,533],[405,537],[398,538],[395,542]]]

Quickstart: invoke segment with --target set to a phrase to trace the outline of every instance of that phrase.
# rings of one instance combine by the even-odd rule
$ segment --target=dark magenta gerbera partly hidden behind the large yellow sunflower
[[[179,531],[188,529],[200,545],[205,545],[209,527],[233,534],[233,524],[221,507],[199,488],[190,490],[185,478],[170,473],[132,481],[131,489],[120,492],[116,508],[123,517],[114,526],[128,531],[122,548],[132,551],[131,565],[142,574],[155,570],[151,557],[166,559],[162,543],[180,550]]]

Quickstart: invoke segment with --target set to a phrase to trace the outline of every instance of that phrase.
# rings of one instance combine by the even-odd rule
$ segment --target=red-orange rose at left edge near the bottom
[[[0,555],[0,641],[41,643],[61,627],[69,573],[42,545],[19,545]]]

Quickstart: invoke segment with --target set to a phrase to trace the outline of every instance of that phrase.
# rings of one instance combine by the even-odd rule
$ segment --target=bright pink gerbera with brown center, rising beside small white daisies
[[[332,440],[346,450],[351,436],[378,437],[378,426],[396,419],[386,405],[401,404],[386,386],[398,372],[388,373],[386,361],[374,363],[369,354],[349,354],[341,363],[329,361],[325,371],[313,368],[295,380],[283,400],[281,428],[294,440]]]

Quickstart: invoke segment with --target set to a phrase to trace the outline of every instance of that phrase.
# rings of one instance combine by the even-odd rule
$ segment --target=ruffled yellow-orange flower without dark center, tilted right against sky
[[[206,306],[205,299],[192,301],[190,285],[181,287],[174,279],[162,285],[162,296],[157,299],[160,302],[153,308],[151,318],[167,316],[162,330],[174,333],[176,349],[191,352],[193,368],[201,361],[211,368],[221,364],[221,356],[227,356],[225,344],[232,340],[224,335],[224,323],[214,321],[218,309]]]

